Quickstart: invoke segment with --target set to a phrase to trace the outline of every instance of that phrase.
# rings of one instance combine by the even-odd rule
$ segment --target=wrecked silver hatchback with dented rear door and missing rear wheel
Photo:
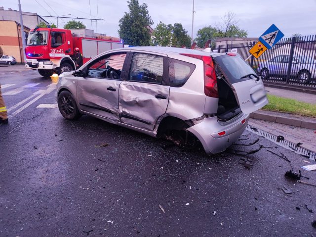
[[[249,114],[268,103],[260,78],[237,54],[174,47],[104,52],[59,77],[66,119],[91,115],[179,146],[224,151]]]

